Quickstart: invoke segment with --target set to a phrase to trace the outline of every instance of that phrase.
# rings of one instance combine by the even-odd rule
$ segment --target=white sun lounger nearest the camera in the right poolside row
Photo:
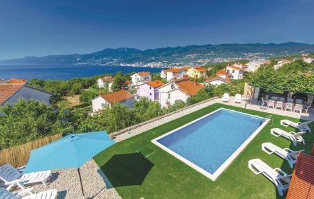
[[[259,159],[249,160],[248,168],[251,169],[254,174],[263,174],[268,180],[271,180],[277,187],[280,196],[284,196],[284,191],[289,188],[292,174],[288,175],[282,171],[282,169],[273,169]]]

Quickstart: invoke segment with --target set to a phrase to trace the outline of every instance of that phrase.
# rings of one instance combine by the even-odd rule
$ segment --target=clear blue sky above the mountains
[[[104,48],[314,43],[312,0],[0,0],[0,59]]]

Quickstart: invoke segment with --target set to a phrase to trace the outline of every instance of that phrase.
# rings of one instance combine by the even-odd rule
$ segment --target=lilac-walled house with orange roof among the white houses
[[[137,90],[137,96],[139,98],[147,97],[150,101],[155,101],[159,99],[159,92],[157,91],[158,87],[165,85],[162,81],[148,81],[144,84],[139,85]]]

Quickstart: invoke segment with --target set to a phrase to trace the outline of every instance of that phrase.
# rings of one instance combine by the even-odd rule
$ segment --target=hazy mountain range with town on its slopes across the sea
[[[314,52],[314,45],[306,43],[248,43],[219,45],[188,45],[176,48],[137,50],[135,48],[106,48],[89,54],[26,56],[22,59],[0,61],[2,65],[132,65],[169,67],[204,65],[206,63],[239,59],[266,59]]]

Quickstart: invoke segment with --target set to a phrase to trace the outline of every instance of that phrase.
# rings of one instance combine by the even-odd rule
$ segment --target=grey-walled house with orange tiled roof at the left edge
[[[26,80],[11,78],[0,83],[0,105],[14,104],[20,98],[50,105],[53,93],[28,85]]]

